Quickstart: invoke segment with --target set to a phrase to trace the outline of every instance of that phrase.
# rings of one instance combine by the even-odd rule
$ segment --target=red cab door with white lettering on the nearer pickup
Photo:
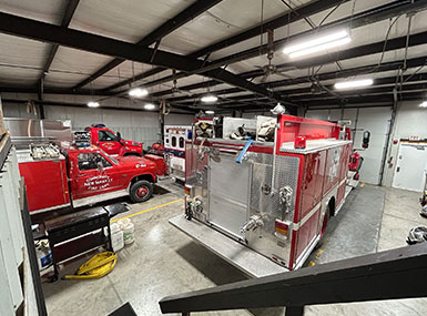
[[[99,162],[103,169],[99,167]],[[77,165],[71,174],[72,197],[83,198],[124,188],[122,176],[113,163],[98,152],[83,152],[74,156]]]

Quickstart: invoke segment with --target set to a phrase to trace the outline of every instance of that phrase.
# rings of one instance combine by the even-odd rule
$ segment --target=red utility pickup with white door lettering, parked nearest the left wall
[[[153,193],[157,165],[144,157],[112,157],[95,146],[61,152],[40,146],[17,151],[30,212],[80,207],[129,195],[144,202]]]

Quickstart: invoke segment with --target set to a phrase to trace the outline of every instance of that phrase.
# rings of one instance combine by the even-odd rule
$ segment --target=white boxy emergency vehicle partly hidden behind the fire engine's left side
[[[185,142],[192,139],[191,125],[164,126],[164,157],[169,166],[169,174],[185,181]]]

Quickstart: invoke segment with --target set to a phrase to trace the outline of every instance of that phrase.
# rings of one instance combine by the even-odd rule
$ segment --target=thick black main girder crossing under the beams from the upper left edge
[[[78,50],[111,55],[121,59],[133,60],[142,63],[152,63],[160,67],[173,68],[181,71],[195,71],[206,64],[203,61],[182,57],[175,53],[157,50],[153,58],[153,49],[131,44],[115,39],[64,29],[58,26],[21,18],[0,12],[0,32],[23,37],[38,41],[57,43]],[[284,104],[295,105],[282,98],[278,93],[246,81],[224,69],[214,69],[205,75],[272,99]]]

